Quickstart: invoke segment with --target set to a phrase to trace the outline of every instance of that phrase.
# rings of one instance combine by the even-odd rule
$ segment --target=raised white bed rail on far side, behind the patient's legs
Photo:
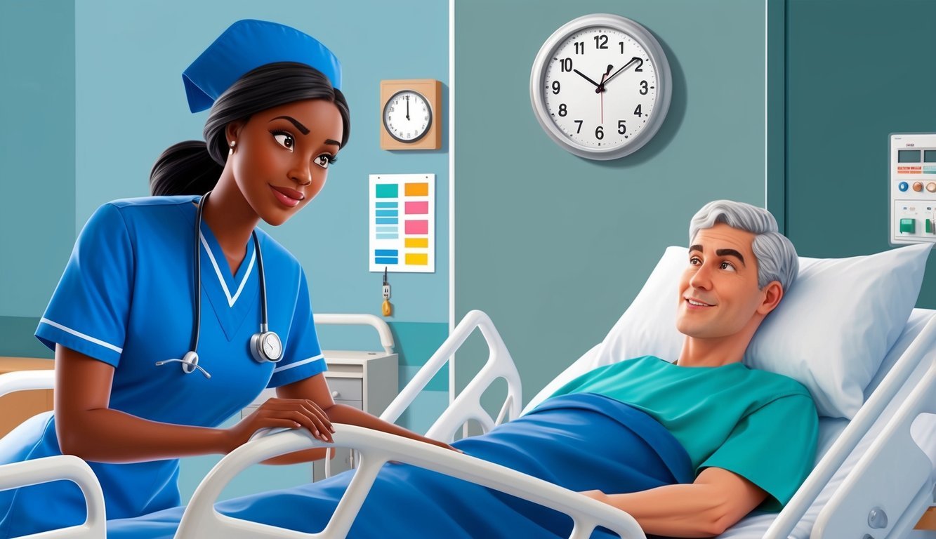
[[[491,322],[490,317],[481,311],[470,311],[465,314],[459,325],[452,330],[446,342],[442,343],[439,349],[435,351],[435,354],[432,354],[432,357],[429,358],[429,361],[419,369],[416,376],[403,387],[403,390],[397,395],[396,399],[390,402],[387,410],[380,415],[380,418],[390,423],[395,422],[403,410],[416,400],[419,392],[429,384],[432,376],[442,369],[449,358],[468,339],[475,328],[481,330],[481,335],[488,343],[490,351],[488,361],[468,386],[455,398],[455,401],[436,419],[435,423],[426,432],[426,436],[434,440],[450,443],[455,439],[455,433],[469,419],[477,421],[486,432],[503,422],[504,419],[508,421],[516,419],[519,415],[520,401],[522,400],[520,375],[513,359],[510,357],[510,353],[507,352],[501,334],[497,332],[497,328],[494,328],[494,323]],[[500,414],[494,419],[481,406],[481,395],[498,378],[505,379],[507,396]]]

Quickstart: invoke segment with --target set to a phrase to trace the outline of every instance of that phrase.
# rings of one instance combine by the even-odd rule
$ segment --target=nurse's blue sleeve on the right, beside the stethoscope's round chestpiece
[[[296,309],[293,311],[289,336],[284,343],[283,359],[273,368],[267,387],[285,386],[327,370],[315,332],[305,271],[300,270],[299,281]]]

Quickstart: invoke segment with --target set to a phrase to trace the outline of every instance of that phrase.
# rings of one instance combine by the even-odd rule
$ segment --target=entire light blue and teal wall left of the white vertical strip
[[[0,356],[50,357],[32,334],[81,226],[103,202],[149,195],[156,156],[201,138],[207,112],[188,112],[181,73],[231,22],[254,18],[295,25],[344,63],[349,144],[322,194],[285,225],[267,227],[306,269],[315,312],[380,314],[382,275],[367,266],[368,175],[435,174],[436,270],[390,275],[395,313],[387,320],[402,355],[400,382],[408,380],[448,331],[448,140],[444,130],[439,151],[380,150],[380,80],[435,79],[447,89],[449,69],[447,3],[407,4],[0,2],[0,239],[12,254],[0,265]],[[402,47],[399,29],[410,24],[424,31],[407,33]],[[320,335],[327,349],[381,349],[370,328]],[[419,409],[445,404],[446,377],[431,383]]]

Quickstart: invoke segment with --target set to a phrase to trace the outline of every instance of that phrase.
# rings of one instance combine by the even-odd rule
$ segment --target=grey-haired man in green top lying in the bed
[[[754,332],[797,276],[796,250],[777,229],[766,210],[729,200],[707,204],[690,225],[680,277],[677,328],[685,341],[679,360],[622,361],[557,392],[627,402],[657,419],[689,453],[697,473],[692,484],[585,492],[627,511],[647,533],[717,535],[762,503],[781,508],[812,469],[818,419],[809,391],[741,363]]]

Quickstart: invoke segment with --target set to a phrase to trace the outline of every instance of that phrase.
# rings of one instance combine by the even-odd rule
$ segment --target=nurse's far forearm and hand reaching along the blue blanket
[[[453,447],[448,444],[443,444],[442,442],[436,442],[425,436],[420,436],[416,432],[403,429],[393,423],[388,423],[374,415],[358,410],[353,406],[336,404],[335,401],[331,399],[331,391],[329,390],[328,383],[325,381],[325,375],[321,373],[293,382],[292,384],[277,387],[276,396],[281,399],[308,399],[313,401],[329,416],[329,421],[332,423],[345,423],[348,425],[358,425],[358,427],[365,427],[367,429],[382,430],[390,434],[426,442],[427,444],[453,449]],[[457,449],[454,450],[457,451]],[[310,451],[314,450],[297,451],[296,453],[290,453],[276,459],[270,459],[266,463],[293,464],[315,459],[316,457],[314,457],[314,454],[310,453]],[[321,456],[319,455],[317,458],[320,459]]]

